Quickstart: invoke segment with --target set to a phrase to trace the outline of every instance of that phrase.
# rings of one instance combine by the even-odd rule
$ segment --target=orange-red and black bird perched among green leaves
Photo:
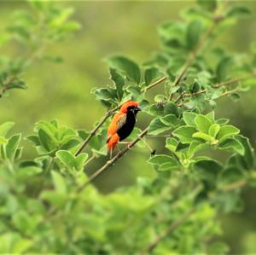
[[[112,158],[113,149],[118,143],[131,135],[136,123],[137,113],[141,108],[137,101],[126,101],[113,115],[113,119],[108,126],[107,147]]]

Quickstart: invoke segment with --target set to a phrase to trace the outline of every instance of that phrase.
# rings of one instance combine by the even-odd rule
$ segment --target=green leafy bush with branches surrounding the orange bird
[[[21,77],[33,61],[59,61],[45,47],[79,28],[68,20],[72,9],[30,2],[33,11],[16,13],[1,40],[27,47],[18,60],[1,59],[1,96],[26,89]],[[0,252],[228,252],[216,241],[216,217],[241,210],[241,188],[255,187],[255,162],[248,139],[229,119],[216,119],[214,107],[221,96],[238,101],[238,92],[256,81],[256,55],[232,54],[215,39],[245,14],[240,5],[198,1],[182,21],[160,26],[162,49],[142,65],[122,55],[106,58],[113,84],[92,90],[107,112],[91,131],[38,121],[31,136],[21,137],[9,135],[14,123],[0,125]],[[162,94],[148,101],[156,86]],[[136,128],[131,143],[87,177],[89,162],[107,155],[110,117],[130,99],[152,116],[148,127]],[[159,136],[166,154],[150,148],[155,177],[138,177],[111,194],[92,185],[136,145],[148,149],[146,139]],[[34,159],[22,157],[21,138],[32,142]],[[223,160],[212,156],[216,150],[224,151]]]

